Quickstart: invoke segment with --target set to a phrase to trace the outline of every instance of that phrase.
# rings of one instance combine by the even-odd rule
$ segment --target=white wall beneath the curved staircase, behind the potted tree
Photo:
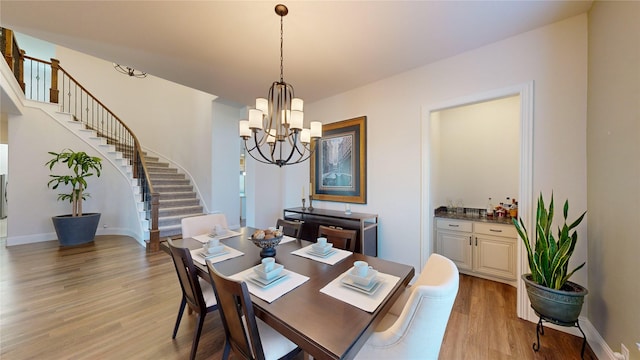
[[[59,191],[47,187],[50,172],[44,164],[51,158],[48,152],[71,148],[102,156],[39,108],[25,107],[23,115],[10,115],[9,138],[7,245],[55,240],[51,217],[71,213],[71,205],[57,201]],[[102,158],[102,175],[87,179],[91,197],[83,203],[83,212],[102,214],[98,235],[121,234],[142,240],[131,186]]]

